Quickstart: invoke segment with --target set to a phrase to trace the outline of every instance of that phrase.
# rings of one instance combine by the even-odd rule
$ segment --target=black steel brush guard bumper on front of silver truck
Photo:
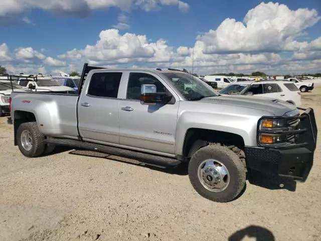
[[[302,113],[297,130],[290,131],[297,136],[295,144],[273,147],[245,147],[247,166],[249,169],[260,171],[267,175],[291,178],[305,182],[313,165],[313,154],[316,147],[317,127],[313,109],[307,108]],[[297,119],[298,116],[275,116],[275,119]],[[259,130],[259,129],[258,129]],[[259,134],[267,133],[258,131]],[[270,132],[271,133],[271,132]],[[273,132],[284,134],[284,132]]]

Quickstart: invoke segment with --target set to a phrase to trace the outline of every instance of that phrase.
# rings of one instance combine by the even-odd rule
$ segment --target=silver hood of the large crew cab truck
[[[297,110],[294,105],[280,99],[245,95],[221,95],[207,97],[199,100],[199,102],[212,102],[247,109],[264,110],[270,115],[283,115],[286,112]]]

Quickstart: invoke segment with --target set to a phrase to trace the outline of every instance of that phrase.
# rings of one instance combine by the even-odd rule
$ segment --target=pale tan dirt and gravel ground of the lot
[[[321,87],[302,102],[314,108],[320,133]],[[215,203],[194,191],[182,168],[64,148],[25,158],[6,121],[0,118],[0,240],[321,240],[320,136],[311,173],[295,192],[247,182],[237,200]]]

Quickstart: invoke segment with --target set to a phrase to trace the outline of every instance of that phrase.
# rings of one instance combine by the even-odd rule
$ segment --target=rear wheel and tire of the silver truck
[[[45,136],[38,130],[36,122],[23,123],[17,130],[17,142],[26,157],[38,157],[45,151]]]

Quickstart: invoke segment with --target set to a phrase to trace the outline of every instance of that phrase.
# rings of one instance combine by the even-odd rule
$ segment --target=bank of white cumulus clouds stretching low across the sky
[[[105,0],[93,2],[99,5]],[[120,5],[125,2],[117,3]],[[140,7],[144,4],[168,6],[179,5],[180,1],[133,0],[131,3]],[[290,10],[285,5],[262,3],[249,11],[243,22],[226,19],[216,30],[199,35],[194,46],[174,47],[165,39],[152,41],[146,35],[129,31],[122,34],[118,30],[121,26],[117,26],[118,29],[101,31],[96,43],[59,56],[45,56],[45,51],[37,51],[32,47],[10,52],[4,43],[0,45],[0,58],[8,66],[16,63],[19,68],[29,68],[33,64],[35,71],[46,67],[49,72],[53,69],[81,71],[85,62],[104,67],[173,67],[191,70],[194,66],[194,70],[201,74],[309,72],[321,68],[321,36],[309,41],[302,41],[302,36],[319,19],[315,10]],[[128,24],[125,14],[118,16],[119,23]]]

